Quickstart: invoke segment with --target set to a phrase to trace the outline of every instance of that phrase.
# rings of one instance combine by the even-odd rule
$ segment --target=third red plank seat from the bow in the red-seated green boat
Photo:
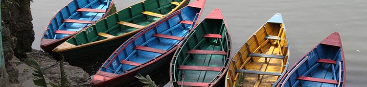
[[[222,67],[205,67],[205,66],[184,66],[181,65],[178,70],[204,70],[204,71],[221,71]]]

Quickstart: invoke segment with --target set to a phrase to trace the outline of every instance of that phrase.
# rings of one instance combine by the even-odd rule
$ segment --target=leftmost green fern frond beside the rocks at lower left
[[[33,78],[34,85],[40,87],[47,87],[46,80],[40,65],[37,63],[35,59],[30,59],[30,63],[33,65],[32,67],[34,68],[33,70],[34,73],[32,73],[32,75],[35,76],[35,78]]]

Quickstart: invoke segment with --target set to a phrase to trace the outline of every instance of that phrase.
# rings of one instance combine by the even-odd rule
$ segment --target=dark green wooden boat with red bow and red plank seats
[[[226,21],[216,8],[177,49],[170,66],[171,87],[224,85],[231,46]]]

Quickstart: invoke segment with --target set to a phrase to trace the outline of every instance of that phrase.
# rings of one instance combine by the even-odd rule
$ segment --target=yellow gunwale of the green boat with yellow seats
[[[137,3],[136,3],[136,4],[134,4],[134,5],[137,5],[137,4],[139,4],[139,3],[144,3],[144,1],[145,1],[145,0],[140,1],[140,2],[137,2]],[[182,0],[182,1],[181,1],[181,3],[180,3],[178,6],[176,6],[175,8],[173,8],[174,10],[171,10],[169,13],[167,13],[167,15],[168,15],[168,14],[172,14],[173,12],[175,12],[175,11],[179,10],[178,8],[179,8],[179,7],[182,7],[183,3],[185,3],[186,1],[190,1],[190,0]],[[131,6],[134,6],[134,5],[131,5]],[[131,7],[131,6],[129,6],[129,7]],[[126,8],[124,8],[124,9],[119,10],[119,11],[116,11],[115,13],[113,13],[113,14],[111,14],[111,15],[107,16],[107,17],[104,17],[104,19],[106,19],[106,18],[108,18],[108,17],[110,17],[110,16],[112,16],[112,15],[114,15],[114,14],[118,14],[118,12],[120,12],[120,11],[122,11],[122,10],[125,10],[125,9],[128,9],[129,7],[126,7]],[[163,16],[163,17],[166,17],[167,15],[165,15],[165,16]],[[163,17],[162,17],[162,18],[163,18]],[[162,19],[162,18],[160,18],[160,19]],[[93,24],[91,24],[91,26],[92,26],[92,25],[95,25],[95,23],[100,22],[100,21],[102,21],[102,20],[103,20],[103,19],[100,19],[100,20],[98,20],[98,21],[94,22]],[[93,45],[101,44],[101,43],[108,42],[108,41],[112,41],[112,40],[115,40],[115,39],[119,39],[119,38],[122,38],[122,37],[125,37],[125,36],[128,36],[128,35],[136,34],[136,33],[138,33],[139,31],[141,31],[141,30],[143,30],[143,29],[147,28],[148,26],[155,24],[156,22],[158,22],[158,20],[157,20],[157,21],[154,21],[154,22],[152,22],[152,23],[150,23],[150,24],[148,24],[148,25],[146,25],[146,26],[144,26],[144,27],[138,28],[138,29],[136,29],[136,30],[134,30],[134,31],[131,31],[131,32],[128,32],[128,33],[124,33],[124,34],[122,34],[122,35],[117,35],[117,36],[112,37],[112,38],[106,38],[106,39],[102,39],[102,40],[98,40],[98,41],[94,41],[94,42],[90,42],[90,43],[86,43],[86,44],[81,44],[81,45],[77,45],[77,46],[75,46],[75,47],[69,47],[69,48],[65,48],[65,49],[56,49],[56,48],[55,48],[55,49],[53,49],[52,51],[53,51],[53,52],[66,52],[66,51],[75,50],[75,49],[80,49],[80,48],[87,48],[87,47],[89,47],[89,46],[93,46]],[[81,31],[85,31],[86,29],[90,28],[91,26],[85,27],[85,28],[84,28],[83,30],[81,30]],[[81,33],[81,32],[75,33],[75,35],[78,35],[78,34],[80,34],[80,33]],[[72,36],[75,36],[75,35],[72,35]],[[68,40],[66,40],[66,41],[69,41],[70,39],[71,39],[71,38],[69,38],[69,39],[68,39]]]

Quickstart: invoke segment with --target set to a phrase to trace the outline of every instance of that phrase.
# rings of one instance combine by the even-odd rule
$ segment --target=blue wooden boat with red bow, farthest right
[[[344,81],[343,46],[335,32],[296,62],[277,87],[344,87]]]

